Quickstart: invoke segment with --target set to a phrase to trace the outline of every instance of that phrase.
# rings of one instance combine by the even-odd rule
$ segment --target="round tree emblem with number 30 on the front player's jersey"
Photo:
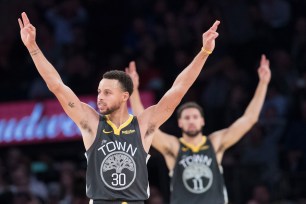
[[[104,184],[113,190],[124,190],[136,178],[136,165],[126,152],[112,152],[103,160],[100,175]]]

